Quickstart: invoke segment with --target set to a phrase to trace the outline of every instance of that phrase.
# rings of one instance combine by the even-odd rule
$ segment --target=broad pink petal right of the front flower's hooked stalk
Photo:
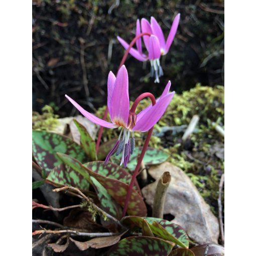
[[[143,116],[137,121],[133,128],[133,131],[147,132],[149,131],[162,117],[167,106],[171,102],[174,91],[165,95],[159,101],[152,106]]]

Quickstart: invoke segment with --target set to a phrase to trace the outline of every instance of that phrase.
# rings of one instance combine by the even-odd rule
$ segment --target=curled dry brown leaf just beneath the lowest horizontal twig
[[[126,231],[125,231],[126,232]],[[124,233],[125,233],[124,232]],[[99,248],[103,248],[103,247],[107,247],[107,246],[111,246],[115,243],[117,243],[120,240],[120,237],[124,234],[119,234],[119,235],[113,235],[113,236],[105,236],[105,237],[96,237],[93,238],[89,241],[85,241],[85,242],[80,242],[80,241],[76,241],[73,238],[69,238],[72,242],[75,243],[75,245],[80,249],[80,250],[86,250],[89,247],[95,248],[95,249],[99,249]]]

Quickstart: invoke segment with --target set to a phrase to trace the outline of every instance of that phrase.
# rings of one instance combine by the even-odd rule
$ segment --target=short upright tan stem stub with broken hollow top
[[[159,178],[156,188],[156,194],[153,202],[152,217],[163,218],[164,216],[164,205],[167,189],[171,182],[171,175],[169,172],[164,172]]]

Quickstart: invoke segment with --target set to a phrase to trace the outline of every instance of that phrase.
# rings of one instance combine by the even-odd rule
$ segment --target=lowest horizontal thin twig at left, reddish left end
[[[102,237],[102,236],[118,235],[118,234],[112,233],[112,232],[87,233],[87,232],[80,232],[80,231],[71,230],[71,229],[63,229],[63,230],[42,229],[42,230],[36,230],[36,231],[32,232],[32,235],[44,234],[44,233],[47,233],[47,234],[71,233],[71,234],[75,234],[75,235],[89,236],[89,237]]]

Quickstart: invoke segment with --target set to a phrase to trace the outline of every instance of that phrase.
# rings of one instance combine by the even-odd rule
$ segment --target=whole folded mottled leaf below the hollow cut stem
[[[147,220],[150,229],[158,237],[174,242],[182,247],[188,247],[189,239],[185,230],[181,226],[171,223],[168,220],[151,217],[141,218],[138,216],[125,216],[121,219],[121,222],[142,228],[144,220]],[[162,223],[164,227],[159,223]]]

